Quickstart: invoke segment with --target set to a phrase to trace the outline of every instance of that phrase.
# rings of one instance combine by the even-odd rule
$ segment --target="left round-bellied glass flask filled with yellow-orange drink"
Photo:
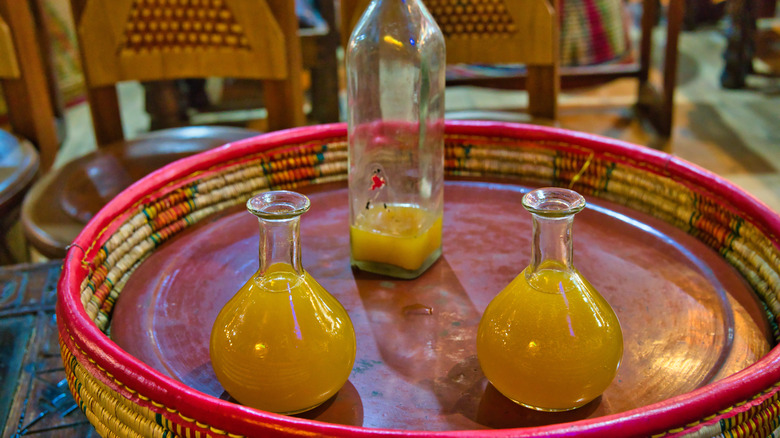
[[[260,222],[260,268],[219,312],[211,364],[241,404],[307,411],[347,381],[355,330],[344,307],[301,265],[299,224],[309,199],[271,191],[246,205]]]

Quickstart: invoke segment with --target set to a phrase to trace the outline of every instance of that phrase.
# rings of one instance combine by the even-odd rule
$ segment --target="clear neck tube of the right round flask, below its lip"
[[[532,213],[531,216],[533,217],[533,244],[527,275],[536,274],[544,269],[571,271],[574,267],[572,240],[574,215],[544,217]]]

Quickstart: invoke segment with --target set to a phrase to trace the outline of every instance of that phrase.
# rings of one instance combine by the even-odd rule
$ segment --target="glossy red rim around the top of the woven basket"
[[[597,154],[625,157],[645,163],[658,173],[683,184],[706,187],[709,193],[723,203],[731,205],[732,208],[751,218],[751,222],[771,235],[773,244],[780,247],[777,237],[780,236],[780,216],[777,213],[724,178],[664,152],[598,135],[514,123],[447,121],[446,128],[449,135],[522,138],[551,144],[577,144],[592,149]],[[84,257],[83,249],[90,248],[92,243],[101,237],[104,230],[115,222],[117,216],[136,205],[145,194],[159,190],[166,186],[167,182],[183,178],[193,171],[240,159],[250,152],[257,153],[293,143],[345,137],[345,124],[310,126],[263,134],[179,160],[174,165],[147,175],[123,191],[86,225],[66,256],[58,284],[57,304],[60,330],[65,336],[64,329],[67,329],[67,334],[73,338],[65,339],[65,342],[67,344],[75,342],[80,350],[116,381],[122,382],[123,385],[138,391],[156,403],[166,407],[175,406],[182,415],[205,422],[209,426],[229,429],[232,433],[245,435],[252,435],[253,431],[257,433],[262,425],[343,436],[501,437],[576,434],[598,437],[603,436],[607,431],[619,431],[621,435],[649,435],[699,421],[718,411],[749,401],[780,381],[780,347],[775,347],[758,362],[718,382],[619,414],[572,423],[519,429],[430,432],[363,428],[271,414],[208,396],[164,376],[126,353],[89,319],[80,299],[81,283],[86,275],[86,268],[81,263]]]

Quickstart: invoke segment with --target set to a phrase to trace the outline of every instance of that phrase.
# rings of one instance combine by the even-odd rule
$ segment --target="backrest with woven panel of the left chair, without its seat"
[[[262,79],[268,128],[304,124],[301,51],[289,0],[72,0],[99,145],[121,140],[115,84]]]

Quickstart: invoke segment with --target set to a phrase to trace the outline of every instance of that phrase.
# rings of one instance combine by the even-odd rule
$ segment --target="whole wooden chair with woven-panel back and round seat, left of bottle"
[[[71,0],[71,6],[99,148],[44,176],[26,197],[22,225],[43,255],[63,257],[84,224],[141,176],[258,134],[184,127],[126,141],[117,83],[258,79],[269,129],[304,123],[301,49],[290,0]]]

